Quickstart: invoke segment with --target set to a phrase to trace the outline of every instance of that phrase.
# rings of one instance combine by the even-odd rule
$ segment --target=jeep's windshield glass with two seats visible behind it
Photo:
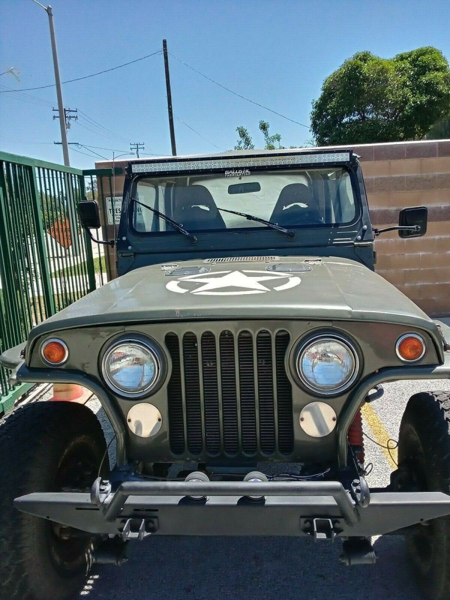
[[[189,232],[266,228],[220,209],[290,228],[347,224],[358,211],[350,174],[341,167],[143,177],[137,179],[133,197]],[[136,232],[175,232],[142,204],[131,202],[130,211]]]

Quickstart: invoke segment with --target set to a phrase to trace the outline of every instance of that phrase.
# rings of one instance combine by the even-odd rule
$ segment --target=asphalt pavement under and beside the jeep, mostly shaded
[[[385,394],[365,413],[364,430],[382,443],[397,440],[410,395],[425,390],[450,392],[450,380],[386,383]],[[106,418],[98,410],[107,439]],[[371,487],[389,482],[389,452],[365,440],[373,463]],[[113,452],[113,449],[112,449]],[[113,456],[111,457],[113,459]],[[420,600],[406,561],[403,539],[374,538],[377,562],[346,567],[338,558],[341,542],[303,538],[164,537],[130,542],[124,566],[94,566],[80,598],[89,600]]]

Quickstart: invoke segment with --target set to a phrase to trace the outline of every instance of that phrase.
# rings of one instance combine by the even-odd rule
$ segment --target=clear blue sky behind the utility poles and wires
[[[53,0],[52,7],[63,81],[148,55],[167,38],[182,61],[305,125],[323,79],[359,50],[387,58],[436,46],[450,59],[447,0]],[[0,73],[11,66],[20,82],[3,75],[1,86],[54,83],[47,16],[32,0],[0,2]],[[170,76],[178,154],[232,149],[237,125],[254,133],[258,147],[260,119],[286,146],[311,137],[308,128],[241,100],[172,57]],[[137,141],[149,153],[170,154],[162,55],[67,83],[62,92],[66,107],[83,112],[68,133],[70,142],[91,146],[79,151],[112,158]],[[60,136],[52,120],[55,88],[26,94],[33,98],[0,94],[0,149],[62,163],[61,146],[53,145]],[[71,151],[75,167],[92,168],[96,158]]]

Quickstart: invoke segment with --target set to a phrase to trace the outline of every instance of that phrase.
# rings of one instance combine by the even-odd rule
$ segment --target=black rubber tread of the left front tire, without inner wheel
[[[65,600],[83,587],[89,557],[77,560],[76,572],[62,575],[53,565],[45,543],[51,527],[49,521],[13,506],[15,497],[49,491],[58,465],[68,448],[76,444],[87,445],[100,465],[106,452],[103,431],[94,413],[81,404],[28,404],[0,422],[2,600]],[[105,471],[109,472],[107,455],[102,468]]]

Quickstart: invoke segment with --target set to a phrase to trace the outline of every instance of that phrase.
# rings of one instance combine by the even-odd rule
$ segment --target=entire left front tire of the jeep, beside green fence
[[[1,424],[0,457],[0,598],[67,600],[82,589],[97,540],[20,512],[13,500],[35,491],[89,491],[103,459],[102,473],[109,473],[100,423],[80,404],[29,404]]]

